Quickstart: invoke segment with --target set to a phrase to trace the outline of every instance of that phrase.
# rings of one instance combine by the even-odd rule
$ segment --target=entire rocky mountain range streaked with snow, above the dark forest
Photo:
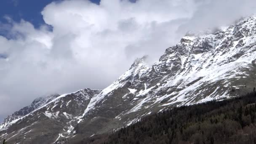
[[[256,16],[214,33],[188,34],[152,66],[145,59],[102,91],[61,95],[22,115],[0,139],[74,144],[170,107],[250,92],[256,87]]]

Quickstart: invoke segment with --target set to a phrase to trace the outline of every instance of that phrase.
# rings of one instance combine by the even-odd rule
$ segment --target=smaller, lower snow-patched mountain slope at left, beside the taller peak
[[[54,96],[1,131],[0,139],[11,144],[51,144],[73,130],[90,99],[99,93],[100,90],[84,89]]]

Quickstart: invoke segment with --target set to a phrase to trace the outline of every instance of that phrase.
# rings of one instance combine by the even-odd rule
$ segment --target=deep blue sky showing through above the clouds
[[[8,16],[14,21],[24,19],[35,27],[40,27],[44,24],[41,11],[53,1],[60,0],[0,0],[0,24],[5,24],[7,22],[5,16]],[[100,0],[91,1],[99,3]]]

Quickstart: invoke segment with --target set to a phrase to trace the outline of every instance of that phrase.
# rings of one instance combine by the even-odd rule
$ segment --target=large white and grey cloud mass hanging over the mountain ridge
[[[64,0],[45,6],[45,25],[1,24],[0,113],[49,93],[102,89],[137,57],[157,61],[187,31],[231,24],[254,0]],[[10,103],[12,104],[10,106]],[[5,108],[8,107],[8,110]]]

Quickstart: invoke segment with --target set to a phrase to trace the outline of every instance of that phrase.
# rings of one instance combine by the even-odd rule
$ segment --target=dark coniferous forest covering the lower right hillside
[[[169,109],[78,144],[256,144],[256,93]]]

